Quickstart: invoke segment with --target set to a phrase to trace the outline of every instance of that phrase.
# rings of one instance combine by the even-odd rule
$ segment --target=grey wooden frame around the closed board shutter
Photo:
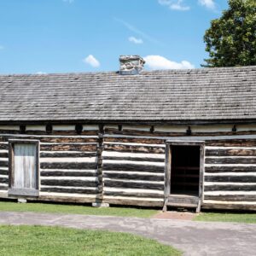
[[[15,182],[15,144],[34,144],[36,145],[36,188],[35,189],[15,189],[13,188]],[[39,195],[39,179],[40,179],[40,165],[39,165],[39,147],[40,141],[27,139],[9,139],[9,190],[8,195],[20,196],[38,196]]]

